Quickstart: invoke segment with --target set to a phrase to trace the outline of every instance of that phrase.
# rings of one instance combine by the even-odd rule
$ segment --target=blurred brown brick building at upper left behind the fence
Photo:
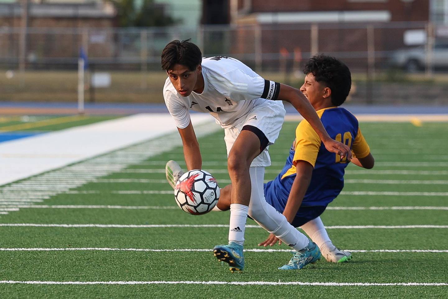
[[[19,59],[22,13],[20,2],[0,3],[0,61],[6,65],[15,64]],[[83,42],[90,44],[92,55],[112,56],[112,35],[100,32],[86,39],[83,28],[104,31],[115,25],[115,17],[116,9],[110,2],[29,2],[27,63],[56,63],[54,58],[76,58]]]

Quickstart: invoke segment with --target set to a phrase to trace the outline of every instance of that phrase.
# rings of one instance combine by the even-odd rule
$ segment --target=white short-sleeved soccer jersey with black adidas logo
[[[202,59],[204,91],[181,96],[169,78],[165,81],[164,99],[177,127],[190,123],[189,110],[210,113],[216,123],[230,128],[244,119],[256,104],[275,100],[280,84],[260,77],[247,65],[231,57]]]

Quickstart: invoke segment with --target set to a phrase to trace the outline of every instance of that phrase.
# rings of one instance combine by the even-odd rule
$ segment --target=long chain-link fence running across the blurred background
[[[162,102],[166,76],[160,70],[160,53],[173,39],[191,38],[204,56],[232,56],[266,78],[294,86],[301,84],[304,62],[324,53],[340,58],[352,70],[352,95],[358,102],[413,103],[423,95],[426,101],[439,104],[443,95],[430,92],[434,96],[428,98],[427,89],[446,88],[446,31],[427,22],[195,29],[4,27],[0,29],[0,68],[4,70],[0,100],[75,101],[82,49],[88,65],[86,100]],[[439,74],[434,76],[434,71]],[[396,91],[401,86],[407,86],[403,93]]]

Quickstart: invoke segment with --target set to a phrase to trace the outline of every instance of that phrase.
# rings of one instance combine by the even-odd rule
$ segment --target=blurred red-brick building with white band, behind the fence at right
[[[306,59],[326,53],[364,68],[369,38],[380,64],[405,47],[406,32],[425,30],[430,19],[430,0],[229,0],[228,5],[237,28],[229,51],[257,52],[261,44],[263,65],[273,67],[279,55]]]

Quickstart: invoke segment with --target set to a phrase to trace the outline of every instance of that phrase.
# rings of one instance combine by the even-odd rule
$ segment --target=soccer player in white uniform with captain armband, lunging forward
[[[223,56],[202,59],[194,43],[174,40],[164,48],[161,63],[168,74],[165,104],[181,135],[188,170],[202,168],[189,110],[210,113],[225,131],[227,167],[233,187],[228,244],[217,245],[213,250],[218,260],[228,263],[232,273],[244,269],[243,244],[248,215],[302,253],[297,269],[319,260],[319,247],[267,204],[263,195],[264,168],[271,165],[267,148],[277,139],[284,120],[281,100],[291,103],[302,114],[328,151],[350,160],[350,148],[330,138],[301,91],[265,80],[237,59]],[[167,164],[172,187],[180,174],[178,166]]]

